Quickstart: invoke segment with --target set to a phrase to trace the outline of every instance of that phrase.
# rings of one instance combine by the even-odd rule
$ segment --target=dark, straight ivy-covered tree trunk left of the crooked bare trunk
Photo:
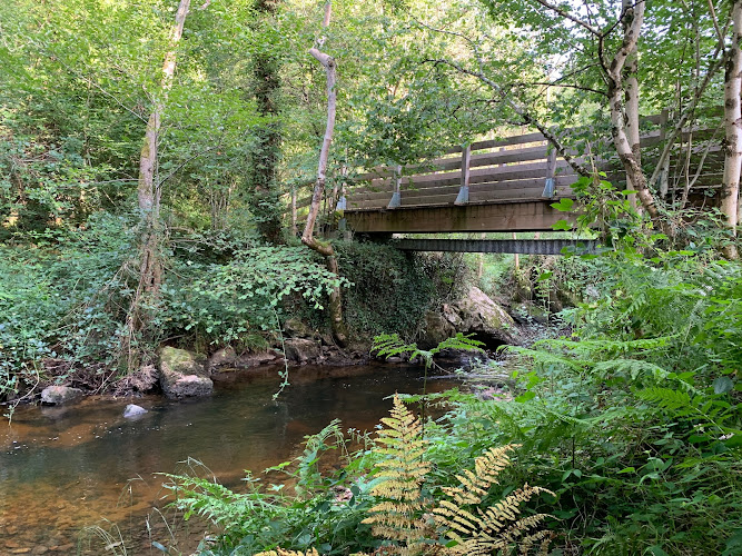
[[[255,9],[261,20],[275,16],[280,0],[256,0]],[[261,24],[264,21],[258,21]],[[267,47],[271,48],[271,47]],[[260,236],[268,242],[283,244],[281,208],[279,202],[276,167],[280,150],[280,122],[278,121],[278,91],[280,89],[279,61],[269,50],[255,57],[253,78],[258,113],[265,123],[257,128],[257,145],[250,157],[248,183],[250,210]]]

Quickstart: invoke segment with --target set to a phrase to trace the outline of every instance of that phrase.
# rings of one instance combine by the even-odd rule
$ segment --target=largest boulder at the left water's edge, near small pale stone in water
[[[185,349],[160,349],[160,386],[171,399],[208,396],[214,383],[196,355]]]

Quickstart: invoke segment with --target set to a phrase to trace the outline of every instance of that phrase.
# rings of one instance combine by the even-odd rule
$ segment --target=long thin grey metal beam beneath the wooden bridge
[[[595,252],[594,239],[395,239],[403,251],[513,252],[521,255],[578,255]]]

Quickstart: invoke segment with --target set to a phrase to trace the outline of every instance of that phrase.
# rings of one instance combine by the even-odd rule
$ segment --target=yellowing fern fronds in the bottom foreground
[[[372,533],[390,540],[384,554],[418,555],[485,555],[521,546],[527,554],[534,546],[545,549],[551,534],[537,529],[547,517],[536,514],[520,517],[521,505],[544,488],[525,485],[485,509],[479,508],[492,485],[497,484],[499,473],[511,460],[508,453],[516,445],[489,448],[474,460],[474,470],[465,469],[456,478],[458,487],[444,487],[449,499],[443,499],[431,510],[432,523],[425,520],[429,508],[422,487],[431,471],[425,461],[427,441],[422,438],[419,420],[394,397],[392,417],[382,419],[386,429],[379,431],[377,450],[387,459],[377,464],[379,480],[372,494],[383,498],[369,510],[363,523],[372,525]],[[454,546],[443,546],[431,539],[437,525]]]

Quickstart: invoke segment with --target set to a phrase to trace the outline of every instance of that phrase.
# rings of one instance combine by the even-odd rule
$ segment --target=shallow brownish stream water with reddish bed
[[[133,400],[149,410],[136,420],[122,417],[128,399],[19,408],[11,424],[0,423],[0,554],[122,550],[105,553],[105,543],[80,540],[80,530],[92,525],[123,539],[129,555],[161,555],[151,540],[168,544],[174,536],[188,554],[204,527],[184,530],[174,516],[166,522],[152,509],[167,494],[157,473],[184,471],[190,457],[238,486],[245,469],[259,474],[296,456],[304,436],[334,418],[346,429],[373,429],[392,406],[384,398],[421,391],[419,375],[405,367],[305,367],[291,371],[278,401],[271,399],[275,371],[227,375],[210,398]],[[431,381],[428,391],[454,385]]]

